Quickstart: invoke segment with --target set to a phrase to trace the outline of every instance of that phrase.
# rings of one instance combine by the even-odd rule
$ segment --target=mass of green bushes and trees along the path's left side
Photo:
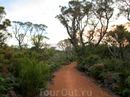
[[[4,17],[4,7],[0,7]],[[12,35],[7,31],[13,26],[18,46],[8,46],[6,41]],[[47,89],[47,82],[54,72],[70,63],[64,52],[45,43],[44,24],[3,20],[0,24],[0,97],[34,97]],[[31,35],[32,47],[24,42]],[[40,95],[39,95],[40,96]]]

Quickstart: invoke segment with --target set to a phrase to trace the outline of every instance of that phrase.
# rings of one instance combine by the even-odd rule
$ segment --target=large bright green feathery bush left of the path
[[[20,58],[17,63],[17,76],[20,82],[20,93],[27,97],[33,97],[40,91],[38,88],[46,88],[46,79],[49,67],[38,63],[36,60]]]

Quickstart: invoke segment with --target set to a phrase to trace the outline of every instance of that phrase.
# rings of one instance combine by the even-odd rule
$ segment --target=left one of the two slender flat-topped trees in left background
[[[13,21],[13,32],[15,34],[15,38],[18,41],[19,47],[23,50],[22,44],[24,43],[25,36],[27,33],[32,32],[32,23],[31,22],[20,22]]]

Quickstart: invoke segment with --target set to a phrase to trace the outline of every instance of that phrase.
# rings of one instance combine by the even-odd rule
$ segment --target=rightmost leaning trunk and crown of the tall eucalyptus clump
[[[110,19],[113,16],[114,8],[112,7],[113,0],[92,0],[94,17],[99,21],[99,39],[95,44],[96,48],[106,35]]]

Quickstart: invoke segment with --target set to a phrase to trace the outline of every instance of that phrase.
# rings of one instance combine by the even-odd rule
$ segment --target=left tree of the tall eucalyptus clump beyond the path
[[[82,46],[85,46],[86,42],[83,41],[83,32],[88,25],[88,21],[91,17],[92,3],[89,1],[69,1],[67,6],[60,6],[61,14],[56,18],[66,28],[70,37],[70,42],[77,48],[79,45],[77,35],[79,33],[79,39]]]

